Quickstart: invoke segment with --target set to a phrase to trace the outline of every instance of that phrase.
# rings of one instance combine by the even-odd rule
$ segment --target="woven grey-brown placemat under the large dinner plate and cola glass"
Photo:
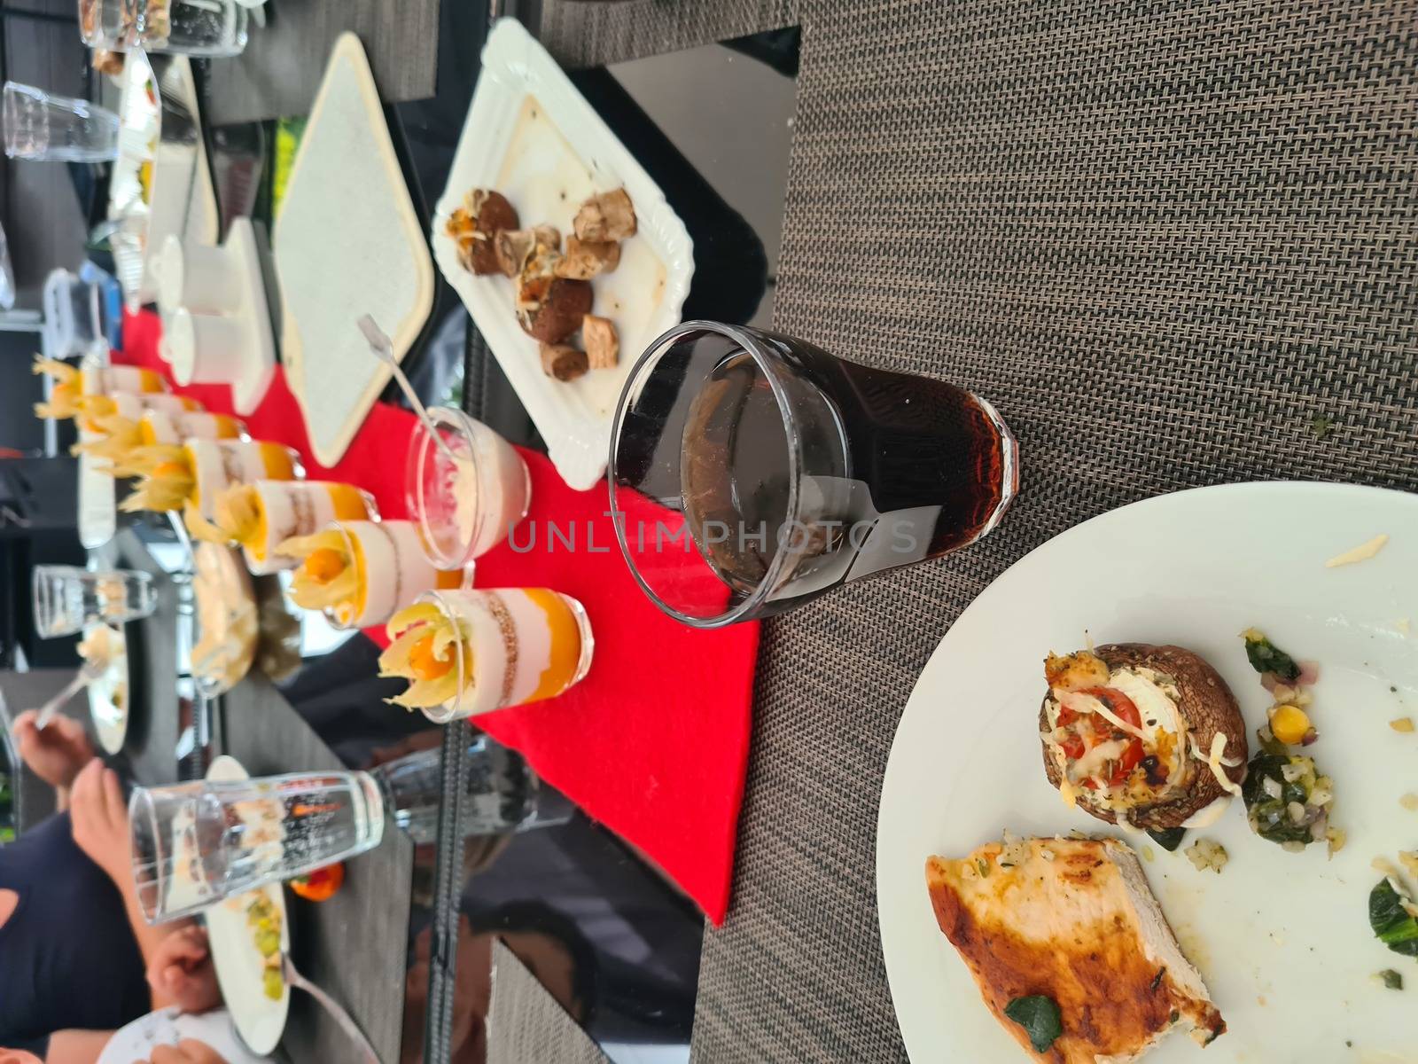
[[[554,48],[743,31],[737,6],[621,7]],[[766,626],[735,902],[700,968],[710,1064],[905,1057],[881,775],[930,651],[1008,565],[1185,487],[1418,489],[1418,3],[797,10],[778,328],[990,397],[1024,484],[980,546]]]

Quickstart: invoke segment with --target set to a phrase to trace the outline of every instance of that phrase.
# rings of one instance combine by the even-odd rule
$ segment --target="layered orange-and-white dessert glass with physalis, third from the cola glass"
[[[207,521],[187,512],[187,531],[207,542],[237,543],[257,576],[295,569],[299,560],[279,553],[288,539],[309,536],[332,521],[377,521],[374,497],[335,481],[255,481],[235,484],[214,502]]]

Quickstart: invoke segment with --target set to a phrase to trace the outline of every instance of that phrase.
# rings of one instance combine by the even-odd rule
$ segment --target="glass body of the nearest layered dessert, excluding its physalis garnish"
[[[452,643],[458,694],[423,711],[435,724],[556,698],[591,668],[591,623],[569,594],[498,587],[428,592],[418,602],[434,603],[444,623],[468,633],[467,648]]]

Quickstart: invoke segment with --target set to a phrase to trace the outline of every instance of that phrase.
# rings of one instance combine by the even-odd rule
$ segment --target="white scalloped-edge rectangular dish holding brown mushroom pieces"
[[[564,235],[583,200],[623,186],[635,204],[638,231],[623,243],[620,265],[591,282],[593,312],[614,321],[620,333],[620,365],[570,383],[553,380],[542,372],[537,342],[518,325],[512,281],[464,270],[444,224],[469,190],[496,189],[522,226],[547,223]],[[488,35],[430,238],[434,261],[532,414],[562,478],[573,488],[594,487],[605,471],[611,419],[631,365],[679,323],[695,271],[693,241],[659,186],[512,18]]]

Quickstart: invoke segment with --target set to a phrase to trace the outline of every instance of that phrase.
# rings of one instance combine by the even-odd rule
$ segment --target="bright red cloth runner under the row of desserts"
[[[160,335],[156,315],[125,316],[116,358],[166,373]],[[233,410],[224,384],[174,390],[208,410]],[[312,480],[357,484],[373,492],[386,518],[407,515],[404,454],[414,427],[407,410],[376,403],[333,468],[311,455],[301,409],[279,369],[244,420],[254,438],[296,448]],[[474,724],[520,750],[545,780],[640,848],[719,925],[733,878],[759,626],[700,631],[666,617],[621,558],[605,489],[573,491],[545,455],[522,457],[532,475],[526,519],[535,522],[536,546],[518,552],[502,543],[478,559],[474,583],[574,596],[590,616],[596,655],[587,677],[560,698]],[[665,519],[652,502],[625,505],[631,522]],[[549,536],[547,522],[574,528],[576,549]],[[519,548],[529,532],[519,526]]]

